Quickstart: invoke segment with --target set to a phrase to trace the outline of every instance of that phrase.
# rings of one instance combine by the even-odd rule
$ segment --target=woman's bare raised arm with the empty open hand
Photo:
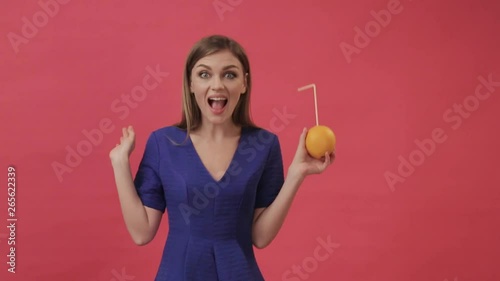
[[[156,235],[163,212],[144,206],[132,178],[129,162],[130,154],[134,149],[135,133],[132,127],[123,128],[122,132],[123,136],[120,138],[120,144],[117,144],[110,152],[118,198],[123,219],[132,240],[137,245],[146,245]],[[151,139],[148,140],[146,153],[149,153],[148,149],[154,147],[154,144],[150,141]],[[143,158],[143,162],[141,162],[140,182],[144,182],[144,179],[150,179],[152,183],[155,183],[154,171],[149,167],[151,165],[147,161]],[[152,186],[153,184],[150,184],[144,188],[152,189]]]

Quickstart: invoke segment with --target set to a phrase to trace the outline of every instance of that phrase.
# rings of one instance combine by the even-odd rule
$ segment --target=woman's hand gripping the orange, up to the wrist
[[[290,174],[299,178],[305,178],[312,174],[321,174],[335,160],[335,151],[330,154],[325,153],[325,156],[321,159],[311,157],[305,145],[306,136],[307,129],[304,128],[300,135],[299,146],[288,170]]]

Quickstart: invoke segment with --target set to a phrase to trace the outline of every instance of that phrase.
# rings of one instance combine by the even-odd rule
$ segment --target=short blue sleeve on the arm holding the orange
[[[276,135],[273,137],[264,171],[257,185],[255,208],[268,207],[278,196],[284,183],[281,146]]]

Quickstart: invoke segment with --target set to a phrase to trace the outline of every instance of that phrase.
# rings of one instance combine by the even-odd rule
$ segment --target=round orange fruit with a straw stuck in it
[[[335,150],[336,137],[327,126],[317,125],[309,129],[306,136],[306,149],[311,157],[320,159],[325,153]]]

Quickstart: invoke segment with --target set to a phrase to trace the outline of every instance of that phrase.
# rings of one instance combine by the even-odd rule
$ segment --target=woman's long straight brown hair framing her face
[[[190,131],[196,130],[201,126],[201,111],[191,95],[191,70],[196,62],[201,58],[214,54],[219,51],[229,50],[243,66],[243,75],[247,75],[247,87],[244,95],[241,95],[236,108],[234,109],[232,120],[236,125],[241,127],[257,127],[251,118],[250,113],[250,94],[252,91],[252,74],[250,72],[250,62],[243,47],[234,39],[224,35],[210,35],[202,38],[194,44],[189,52],[184,73],[183,73],[183,88],[182,88],[182,118],[175,126],[187,131],[189,136]]]

